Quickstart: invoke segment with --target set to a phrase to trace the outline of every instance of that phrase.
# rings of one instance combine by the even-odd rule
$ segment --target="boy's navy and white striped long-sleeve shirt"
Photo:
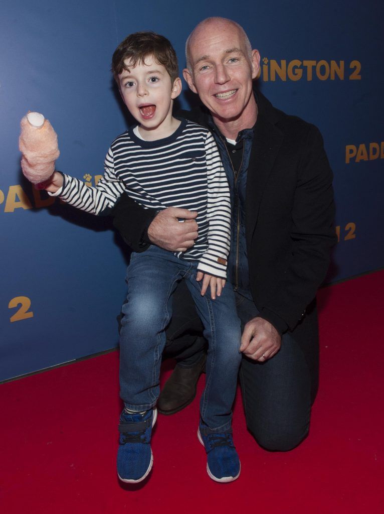
[[[231,203],[219,152],[206,128],[182,119],[174,134],[157,141],[144,141],[129,128],[111,144],[104,169],[95,187],[64,174],[63,187],[51,195],[93,214],[105,213],[124,192],[146,209],[197,211],[194,246],[175,254],[199,261],[200,271],[226,278]]]

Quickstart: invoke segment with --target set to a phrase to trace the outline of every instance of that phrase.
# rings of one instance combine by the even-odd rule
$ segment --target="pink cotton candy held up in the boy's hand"
[[[41,127],[36,127],[28,121],[27,116],[24,116],[20,123],[22,130],[18,148],[23,154],[24,175],[33,184],[38,184],[48,180],[52,175],[60,152],[57,146],[57,135],[49,121],[44,120]]]

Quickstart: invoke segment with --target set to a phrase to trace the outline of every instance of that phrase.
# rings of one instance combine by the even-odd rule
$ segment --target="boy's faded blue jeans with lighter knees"
[[[156,405],[165,328],[172,316],[172,293],[185,278],[208,340],[206,384],[200,401],[203,431],[231,428],[232,404],[241,362],[240,320],[232,286],[226,282],[221,296],[201,296],[196,281],[197,262],[178,259],[172,252],[150,246],[132,253],[127,269],[128,296],[123,305],[120,332],[120,396],[133,411]]]

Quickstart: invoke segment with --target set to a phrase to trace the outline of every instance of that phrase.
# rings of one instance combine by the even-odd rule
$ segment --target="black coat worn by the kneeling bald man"
[[[316,296],[336,241],[333,174],[318,129],[257,94],[245,227],[255,304],[293,331]],[[204,126],[208,112],[184,117]],[[281,323],[280,323],[281,326]]]

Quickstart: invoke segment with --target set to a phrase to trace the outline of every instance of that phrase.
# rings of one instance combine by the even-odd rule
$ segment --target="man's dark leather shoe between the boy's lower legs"
[[[196,396],[196,386],[205,368],[206,354],[194,366],[184,368],[176,364],[160,393],[157,408],[162,414],[175,414],[189,405]]]

